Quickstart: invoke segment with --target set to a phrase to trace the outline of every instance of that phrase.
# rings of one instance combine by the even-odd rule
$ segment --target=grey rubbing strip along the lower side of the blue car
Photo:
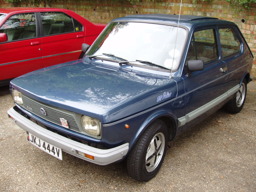
[[[197,118],[199,115],[205,113],[206,111],[210,110],[214,106],[218,105],[228,97],[232,96],[234,93],[236,93],[239,90],[239,85],[233,87],[232,89],[228,90],[223,95],[220,95],[216,99],[210,101],[209,103],[206,103],[205,105],[199,107],[198,109],[191,111],[190,113],[186,114],[183,117],[178,118],[178,126],[183,126],[187,122]]]

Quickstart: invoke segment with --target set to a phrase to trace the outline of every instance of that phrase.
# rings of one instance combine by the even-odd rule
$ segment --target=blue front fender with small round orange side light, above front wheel
[[[185,107],[185,97],[180,96],[125,119],[102,124],[102,138],[105,140],[106,148],[129,143],[129,150],[131,150],[148,125],[156,119],[163,120],[169,127],[173,126],[172,138],[175,137],[180,132],[177,130],[177,119],[185,115]],[[128,129],[126,125],[129,125]]]

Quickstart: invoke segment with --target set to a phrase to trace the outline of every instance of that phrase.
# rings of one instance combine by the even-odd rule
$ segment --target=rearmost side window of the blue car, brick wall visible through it
[[[241,43],[232,28],[220,28],[220,46],[223,57],[240,51]]]

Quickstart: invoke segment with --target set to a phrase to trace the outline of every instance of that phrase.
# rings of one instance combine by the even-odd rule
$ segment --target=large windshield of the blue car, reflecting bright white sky
[[[175,26],[135,22],[111,23],[88,50],[87,55],[109,58],[103,53],[113,54],[127,61],[144,60],[175,70],[180,62],[186,33],[186,29],[179,27],[176,41]]]

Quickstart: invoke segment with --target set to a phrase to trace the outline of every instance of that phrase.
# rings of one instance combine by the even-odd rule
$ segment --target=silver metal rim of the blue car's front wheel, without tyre
[[[165,136],[162,132],[157,133],[151,140],[146,154],[145,167],[147,172],[152,172],[160,163],[165,147]]]

